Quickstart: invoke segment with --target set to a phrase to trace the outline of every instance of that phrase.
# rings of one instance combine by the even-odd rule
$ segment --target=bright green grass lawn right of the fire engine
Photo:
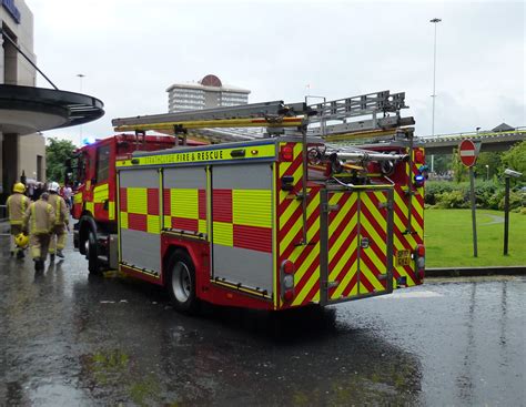
[[[425,211],[426,267],[526,266],[526,215],[509,213],[508,255],[504,212],[477,210],[478,257],[473,257],[472,211]]]

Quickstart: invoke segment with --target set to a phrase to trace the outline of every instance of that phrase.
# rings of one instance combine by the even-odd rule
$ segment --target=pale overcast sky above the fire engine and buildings
[[[82,93],[104,102],[84,136],[111,135],[113,118],[166,112],[170,84],[209,73],[250,89],[250,102],[406,92],[404,114],[431,134],[435,17],[435,133],[526,125],[523,1],[26,2],[39,68],[68,91],[84,74]],[[79,132],[45,134],[78,142]]]

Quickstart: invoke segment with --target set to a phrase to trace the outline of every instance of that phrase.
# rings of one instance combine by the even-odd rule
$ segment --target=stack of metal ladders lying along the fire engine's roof
[[[183,135],[213,143],[257,140],[285,128],[296,128],[306,135],[338,142],[363,138],[385,140],[397,129],[414,124],[413,118],[401,118],[406,109],[405,93],[382,91],[358,96],[307,103],[283,101],[251,103],[189,112],[175,112],[113,119],[115,131],[160,132]],[[390,115],[392,114],[392,115]],[[364,116],[370,116],[364,119]],[[360,120],[351,121],[360,118]],[[253,130],[251,130],[253,129]],[[179,138],[176,138],[179,141]]]

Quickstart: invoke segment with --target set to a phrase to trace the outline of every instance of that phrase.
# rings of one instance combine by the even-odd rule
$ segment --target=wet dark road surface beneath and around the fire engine
[[[284,315],[34,274],[0,237],[0,405],[525,405],[526,279],[433,283]]]

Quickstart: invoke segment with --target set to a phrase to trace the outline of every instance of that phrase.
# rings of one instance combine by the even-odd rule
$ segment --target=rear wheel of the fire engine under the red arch
[[[195,295],[195,267],[189,254],[175,251],[168,261],[166,288],[176,311],[194,314],[199,307]]]

